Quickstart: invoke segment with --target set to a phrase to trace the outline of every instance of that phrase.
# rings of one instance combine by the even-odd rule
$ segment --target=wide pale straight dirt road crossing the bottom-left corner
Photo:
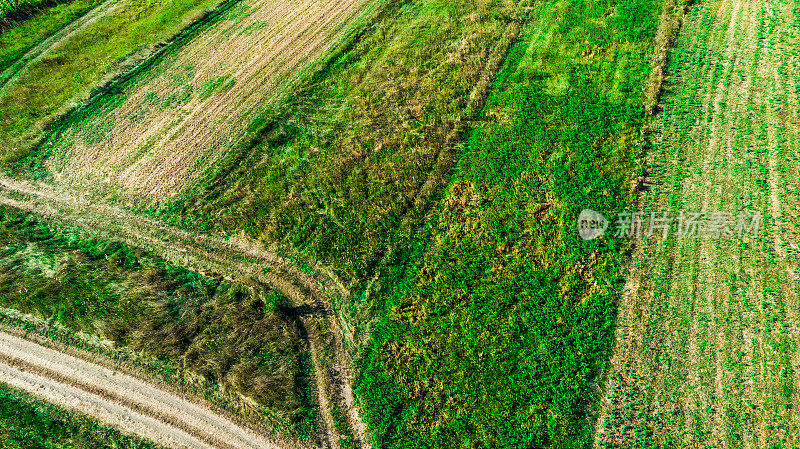
[[[278,447],[131,376],[6,333],[0,333],[0,381],[167,447]]]

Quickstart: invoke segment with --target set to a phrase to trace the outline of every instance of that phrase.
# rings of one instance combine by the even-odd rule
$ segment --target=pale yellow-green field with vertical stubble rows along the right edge
[[[794,2],[688,11],[642,208],[748,210],[763,224],[756,237],[638,246],[598,447],[800,445],[799,39]]]

